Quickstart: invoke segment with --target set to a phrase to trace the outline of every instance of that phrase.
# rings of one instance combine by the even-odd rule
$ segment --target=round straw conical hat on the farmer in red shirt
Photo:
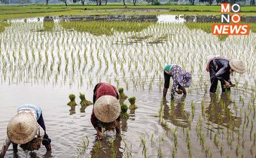
[[[120,115],[120,104],[114,96],[101,96],[96,100],[94,114],[103,123],[110,123]]]

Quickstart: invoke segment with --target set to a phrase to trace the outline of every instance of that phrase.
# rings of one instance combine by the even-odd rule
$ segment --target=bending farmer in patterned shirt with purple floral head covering
[[[175,92],[177,92],[178,94],[181,94],[181,93],[184,93],[184,95],[187,94],[185,87],[190,87],[190,79],[191,79],[190,73],[185,72],[178,65],[169,64],[163,68],[163,75],[164,75],[163,97],[166,97],[166,93],[169,88],[170,77],[172,77],[172,80],[173,80],[172,92],[171,92],[172,99],[174,98]],[[178,87],[178,90],[176,90],[177,87]]]

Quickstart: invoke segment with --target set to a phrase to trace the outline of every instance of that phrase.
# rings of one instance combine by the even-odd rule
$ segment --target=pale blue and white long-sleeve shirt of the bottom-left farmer
[[[35,120],[38,120],[38,118],[41,115],[41,108],[38,107],[38,105],[20,105],[18,107],[17,113],[22,113],[22,112],[26,112],[29,114],[32,114],[32,116],[35,118]],[[38,130],[37,130],[37,136],[44,136],[44,129],[42,129],[42,127],[38,124]],[[1,153],[0,153],[0,158],[5,156],[6,151],[8,150],[8,147],[11,144],[11,140],[10,138],[6,137]]]

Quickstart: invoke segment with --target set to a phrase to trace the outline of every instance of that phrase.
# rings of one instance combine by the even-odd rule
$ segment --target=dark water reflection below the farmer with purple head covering
[[[187,128],[189,126],[190,114],[184,110],[184,99],[171,100],[170,108],[166,99],[163,99],[163,119],[170,120],[175,126]]]

